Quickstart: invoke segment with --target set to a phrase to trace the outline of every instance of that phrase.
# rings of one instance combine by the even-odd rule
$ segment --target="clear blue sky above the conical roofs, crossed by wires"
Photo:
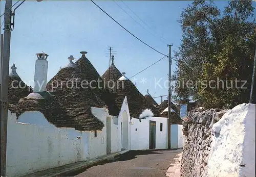
[[[16,1],[12,4],[14,3]],[[192,1],[95,3],[124,28],[159,52],[167,55],[167,44],[172,43],[174,56],[182,38],[177,20],[183,9]],[[226,4],[226,1],[216,2],[220,8]],[[5,1],[1,1],[1,15],[4,8]],[[3,20],[4,16],[1,17],[1,24]],[[2,29],[3,26],[1,33]],[[75,62],[81,57],[80,52],[86,51],[87,58],[102,75],[109,68],[108,46],[112,46],[115,51],[116,67],[121,72],[126,72],[128,78],[163,57],[127,33],[91,1],[25,1],[15,11],[15,27],[11,32],[10,67],[14,63],[19,77],[27,84],[32,83],[37,59],[35,54],[43,51],[49,55],[48,82],[60,67],[68,64],[70,55],[73,55]],[[176,63],[173,61],[172,73],[176,69]],[[148,89],[150,94],[156,97],[168,94],[167,74],[168,59],[165,58],[131,80],[136,81],[136,86],[143,95]],[[166,99],[166,96],[163,99]],[[155,100],[161,103],[161,97]]]

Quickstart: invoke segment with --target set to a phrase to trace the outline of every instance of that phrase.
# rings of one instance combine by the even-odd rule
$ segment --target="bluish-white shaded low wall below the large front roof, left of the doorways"
[[[8,110],[8,176],[25,175],[84,158],[88,133],[84,132],[81,137],[82,133],[74,129],[56,128],[36,111],[25,112],[18,121],[33,124],[16,122],[16,115]]]

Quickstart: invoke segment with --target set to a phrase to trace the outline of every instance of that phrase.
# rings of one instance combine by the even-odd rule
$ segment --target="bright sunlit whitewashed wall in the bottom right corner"
[[[214,124],[203,176],[255,176],[255,105],[234,107]]]

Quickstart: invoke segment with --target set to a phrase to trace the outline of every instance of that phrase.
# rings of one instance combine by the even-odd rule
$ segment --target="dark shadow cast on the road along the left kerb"
[[[80,174],[80,173],[86,171],[87,169],[89,169],[91,167],[95,167],[95,166],[98,166],[98,165],[104,165],[104,164],[108,164],[108,163],[113,163],[113,162],[132,160],[132,159],[137,158],[136,156],[149,155],[149,154],[162,154],[161,151],[163,151],[163,150],[164,151],[173,151],[173,150],[167,150],[167,149],[130,150],[127,153],[124,153],[122,155],[118,155],[118,156],[114,157],[113,159],[104,160],[104,161],[95,163],[91,166],[88,166],[86,168],[82,168],[80,170],[77,170],[77,171],[69,173],[69,174],[65,174],[63,176],[75,176],[77,174]]]

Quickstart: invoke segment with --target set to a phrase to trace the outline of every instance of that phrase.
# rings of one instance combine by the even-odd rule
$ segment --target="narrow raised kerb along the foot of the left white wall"
[[[55,168],[46,169],[43,171],[38,171],[35,173],[31,173],[31,174],[26,174],[26,175],[24,175],[24,177],[25,176],[63,176],[63,175],[67,175],[67,174],[75,172],[77,170],[87,168],[88,166],[94,165],[98,162],[112,159],[115,156],[127,153],[127,151],[129,151],[129,150],[122,150],[118,153],[101,156],[101,157],[98,157],[95,159],[75,162],[75,163],[71,163],[71,164],[67,164],[67,165],[63,165],[63,166],[59,166],[59,167],[55,167]]]

